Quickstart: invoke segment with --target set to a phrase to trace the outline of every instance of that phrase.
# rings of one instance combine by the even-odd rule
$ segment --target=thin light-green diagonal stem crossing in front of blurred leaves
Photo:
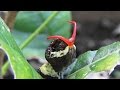
[[[20,45],[20,49],[25,48],[39,33],[41,33],[46,25],[58,14],[58,11],[53,11],[52,14]],[[7,61],[2,67],[2,76],[6,74],[9,67]]]

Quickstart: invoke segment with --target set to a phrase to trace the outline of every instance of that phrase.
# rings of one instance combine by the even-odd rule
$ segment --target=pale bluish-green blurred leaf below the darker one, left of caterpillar
[[[15,37],[15,41],[18,45],[21,45],[21,43],[24,42],[24,40],[27,39],[30,34],[31,33],[20,31],[12,32],[12,35]],[[49,43],[50,41],[46,39],[46,35],[41,34],[40,36],[37,36],[34,40],[32,40],[31,43],[22,50],[22,52],[27,59],[36,57],[38,59],[45,60],[44,53]]]

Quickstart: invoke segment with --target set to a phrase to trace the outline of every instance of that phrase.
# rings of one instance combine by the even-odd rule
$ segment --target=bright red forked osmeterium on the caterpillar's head
[[[76,22],[75,21],[68,21],[69,23],[74,24],[74,30],[73,30],[73,34],[72,37],[70,39],[64,38],[62,36],[49,36],[48,39],[61,39],[62,41],[64,41],[66,44],[68,44],[68,46],[73,46],[74,42],[75,42],[75,38],[76,38]]]

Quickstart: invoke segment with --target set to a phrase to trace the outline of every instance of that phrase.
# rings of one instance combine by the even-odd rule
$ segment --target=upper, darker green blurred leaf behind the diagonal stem
[[[50,15],[52,11],[20,11],[16,17],[14,28],[23,32],[33,32]],[[59,14],[46,26],[45,33],[48,35],[60,34],[68,37],[70,35],[71,12],[60,11]]]

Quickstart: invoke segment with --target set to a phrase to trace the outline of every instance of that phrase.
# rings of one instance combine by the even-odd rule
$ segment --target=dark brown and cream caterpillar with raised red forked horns
[[[54,72],[56,72],[60,76],[60,78],[63,78],[63,72],[67,70],[67,68],[76,59],[76,46],[74,45],[76,38],[76,22],[69,21],[69,23],[74,24],[74,30],[71,38],[67,39],[58,35],[48,37],[48,39],[54,39],[45,51],[45,58],[49,64],[43,65],[40,68],[40,70],[42,71],[42,69],[46,68],[47,65],[52,66]],[[42,71],[42,73],[48,74],[44,71]],[[56,74],[55,76],[57,77]]]

